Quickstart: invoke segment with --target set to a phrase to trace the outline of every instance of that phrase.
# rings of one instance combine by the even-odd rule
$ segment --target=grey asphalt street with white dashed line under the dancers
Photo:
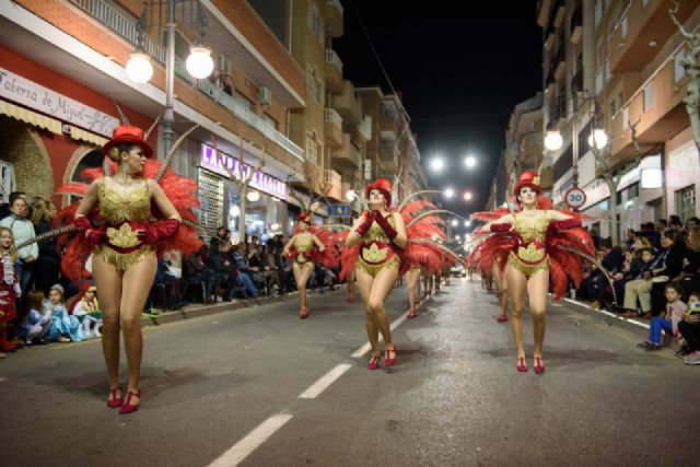
[[[130,416],[106,407],[98,341],[23,349],[0,361],[0,465],[698,463],[700,367],[635,348],[640,327],[555,303],[547,371],[532,371],[527,315],[530,371],[517,373],[497,305],[453,279],[401,322],[395,289],[398,362],[374,372],[351,357],[366,335],[343,291],[313,294],[306,320],[289,299],[148,327]]]

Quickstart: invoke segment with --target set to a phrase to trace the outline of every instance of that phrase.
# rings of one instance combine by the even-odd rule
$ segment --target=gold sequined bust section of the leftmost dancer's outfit
[[[100,214],[108,224],[118,224],[125,221],[148,221],[151,219],[151,192],[148,182],[129,191],[124,198],[119,191],[105,187],[105,179],[100,179]]]

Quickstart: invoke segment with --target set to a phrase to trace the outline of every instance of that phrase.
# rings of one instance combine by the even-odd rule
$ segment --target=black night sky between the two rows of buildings
[[[359,14],[394,87],[404,94],[431,185],[457,191],[448,209],[462,214],[481,210],[513,107],[541,91],[536,1],[341,2],[345,36],[332,47],[346,79],[358,87],[380,84],[389,91]],[[448,164],[441,175],[428,166],[436,153]],[[472,172],[463,163],[467,153],[479,161]],[[462,200],[467,189],[474,195],[470,202]]]

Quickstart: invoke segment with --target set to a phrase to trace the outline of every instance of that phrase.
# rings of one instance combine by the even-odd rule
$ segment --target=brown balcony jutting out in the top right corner
[[[680,2],[676,14],[678,21],[685,23],[697,5],[693,1]],[[610,37],[610,66],[614,73],[641,71],[656,57],[660,47],[676,34],[678,30],[670,20],[669,8],[673,8],[672,1],[649,2],[646,7],[641,1],[631,2]],[[695,26],[697,24],[687,28],[692,31]],[[650,46],[653,43],[655,47]]]

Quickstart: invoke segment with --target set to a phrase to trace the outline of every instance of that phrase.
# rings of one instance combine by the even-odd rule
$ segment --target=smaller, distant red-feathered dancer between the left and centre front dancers
[[[294,281],[299,290],[301,300],[301,310],[299,317],[306,319],[308,317],[308,307],[306,300],[306,282],[314,272],[315,261],[323,264],[327,268],[338,266],[338,255],[335,247],[329,245],[332,232],[320,226],[312,225],[311,215],[307,212],[299,214],[299,223],[296,231],[290,241],[284,245],[284,255],[289,255],[292,261],[292,272]],[[322,241],[322,238],[325,240]]]

